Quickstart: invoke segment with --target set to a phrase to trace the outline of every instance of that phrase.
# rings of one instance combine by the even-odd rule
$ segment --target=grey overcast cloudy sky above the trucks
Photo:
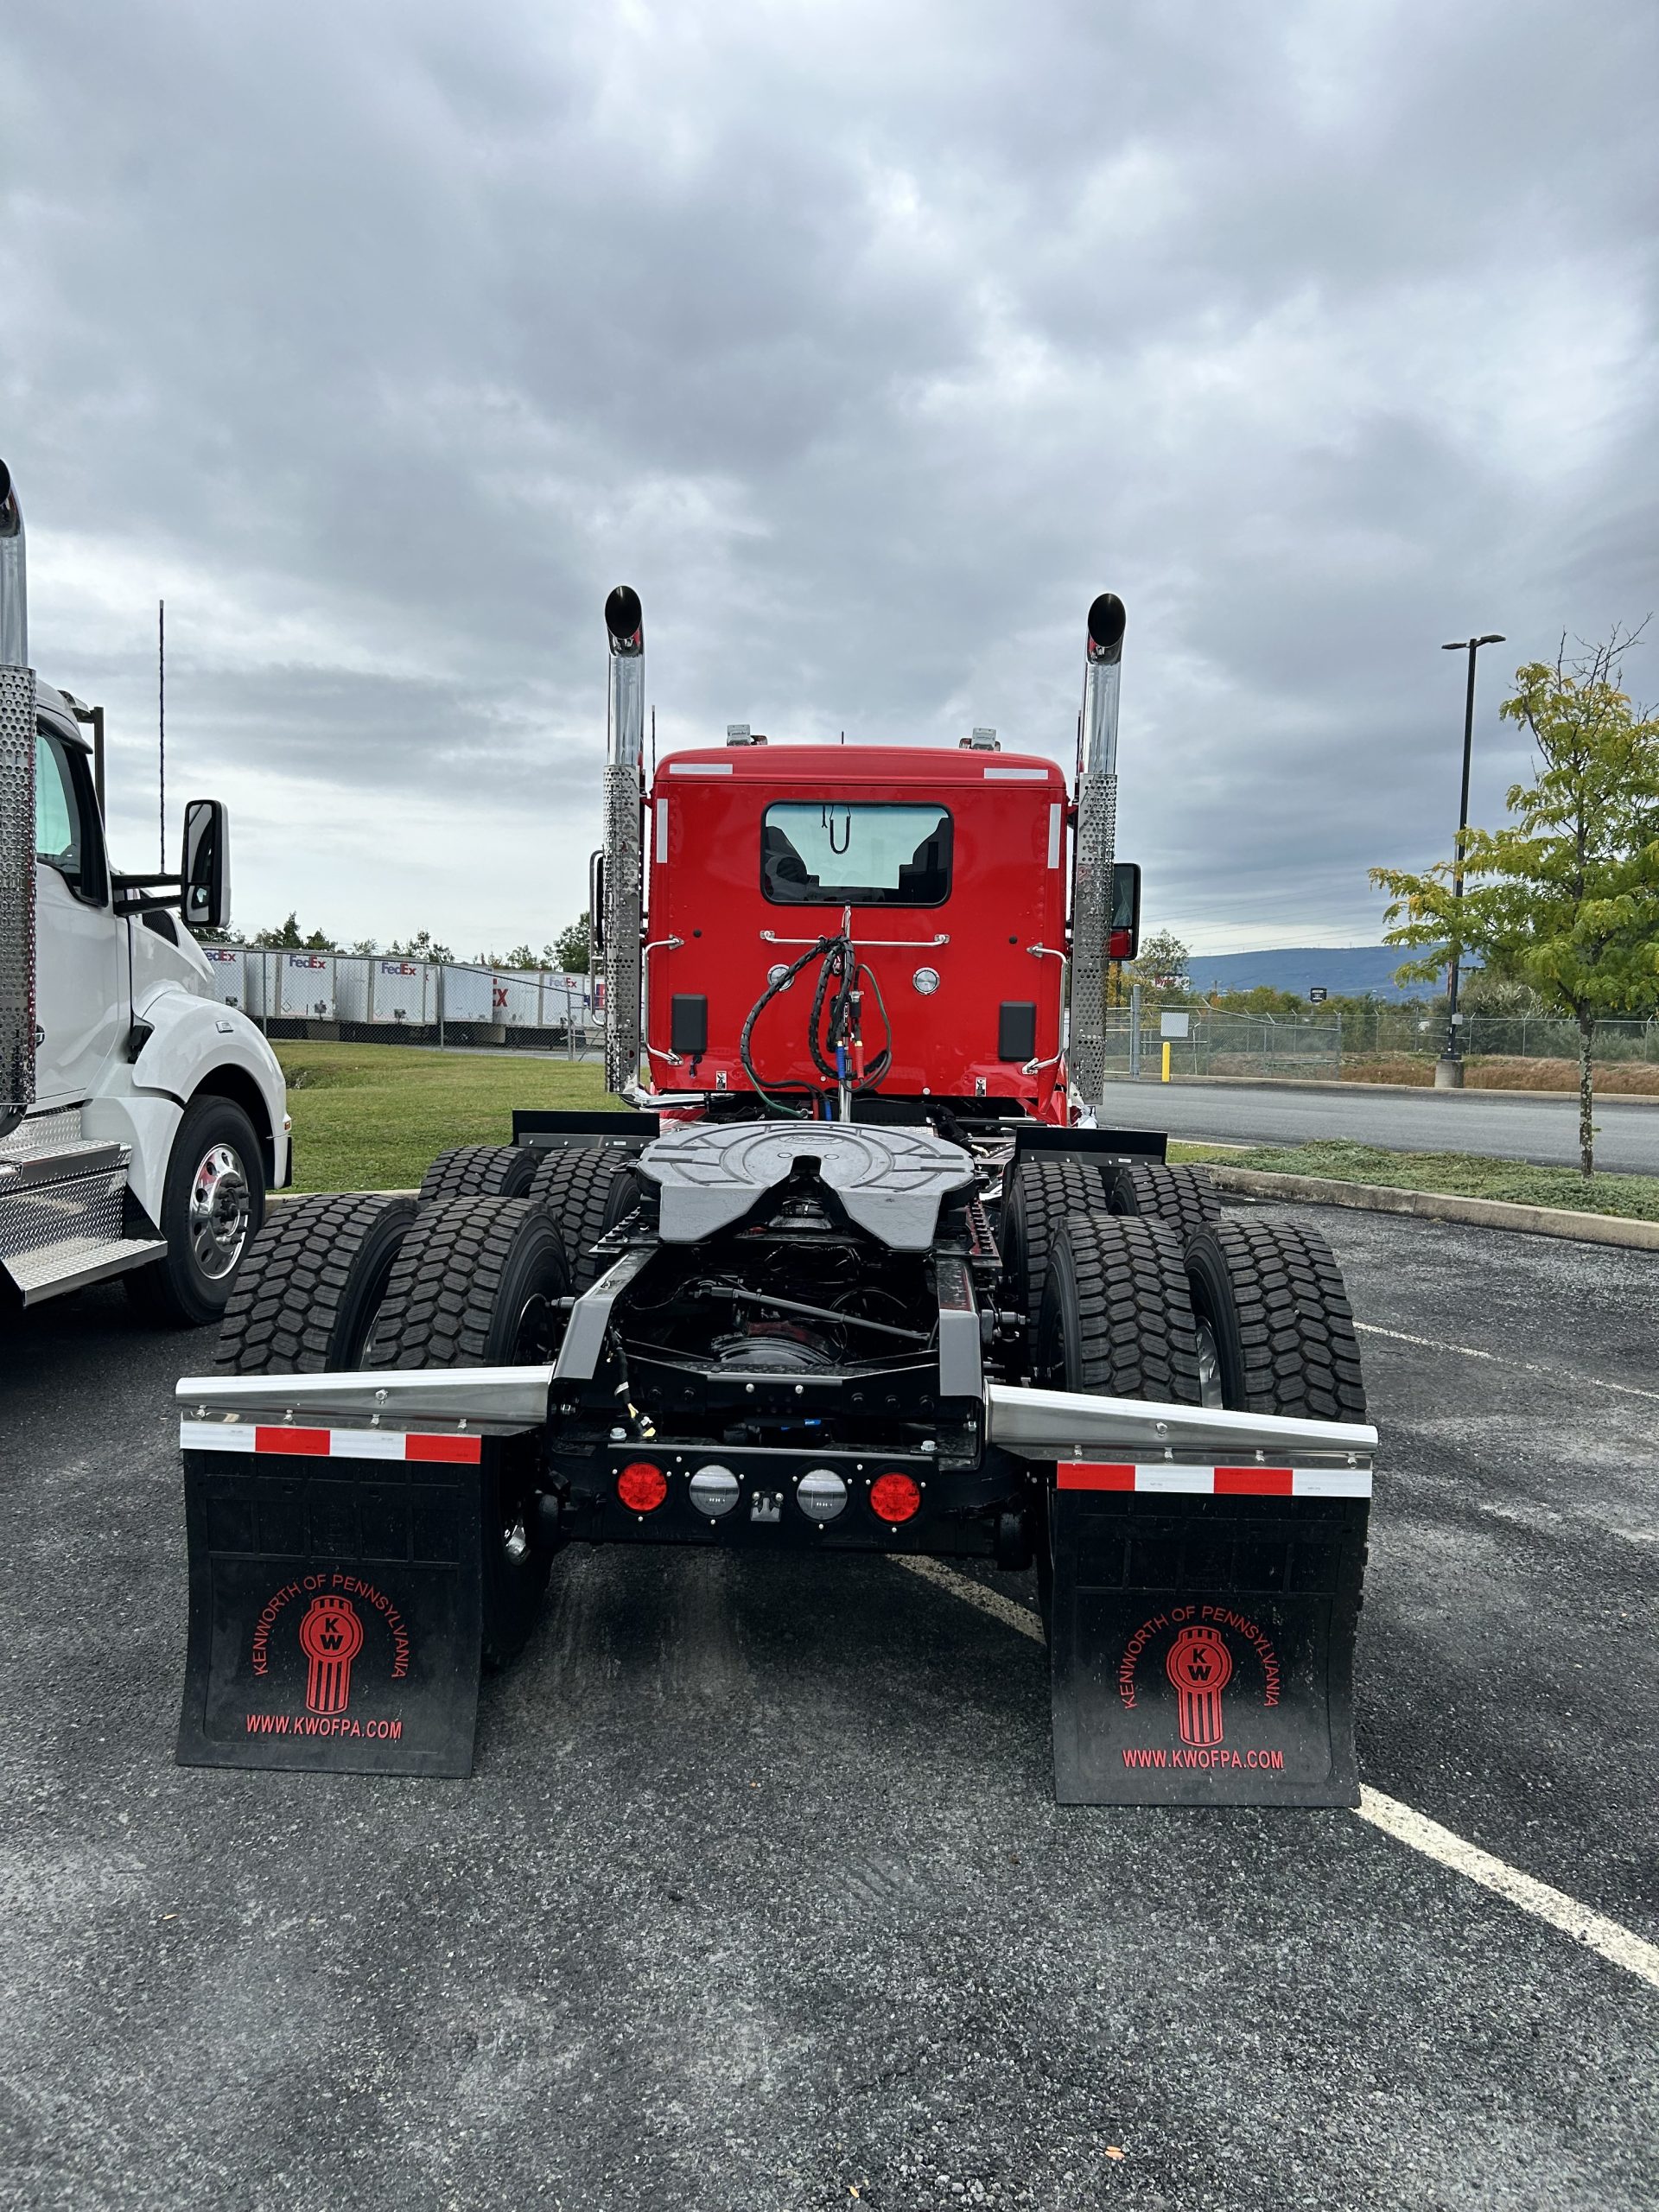
[[[1115,588],[1148,925],[1376,942],[1442,639],[1491,821],[1515,661],[1659,606],[1648,0],[53,0],[0,82],[33,659],[153,865],[166,597],[243,927],[573,918],[626,580],[661,748],[1064,759]]]

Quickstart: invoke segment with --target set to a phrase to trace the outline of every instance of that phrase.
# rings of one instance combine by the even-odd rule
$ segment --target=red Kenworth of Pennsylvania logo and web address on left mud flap
[[[403,1613],[374,1582],[343,1573],[285,1582],[259,1608],[248,1663],[254,1683],[268,1683],[279,1699],[303,1686],[305,1710],[250,1712],[248,1734],[400,1743],[403,1714],[374,1708],[385,1708],[385,1692],[407,1681],[409,1657]]]

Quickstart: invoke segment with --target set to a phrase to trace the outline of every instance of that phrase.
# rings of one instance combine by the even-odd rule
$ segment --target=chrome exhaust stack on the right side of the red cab
[[[1117,686],[1128,615],[1113,591],[1088,608],[1077,841],[1071,885],[1071,1082],[1084,1106],[1106,1086],[1106,936],[1117,847]]]

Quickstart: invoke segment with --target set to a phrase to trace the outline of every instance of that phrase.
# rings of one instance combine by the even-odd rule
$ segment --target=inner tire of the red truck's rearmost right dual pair
[[[1048,1261],[1033,1365],[1040,1389],[1199,1405],[1199,1332],[1179,1232],[1168,1221],[1073,1214]],[[1037,1531],[1037,1610],[1046,1635],[1046,1526]]]

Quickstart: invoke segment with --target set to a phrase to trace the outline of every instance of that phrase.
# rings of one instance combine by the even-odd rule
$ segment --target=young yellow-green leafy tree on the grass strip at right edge
[[[1579,1168],[1595,1172],[1590,1044],[1599,1015],[1659,1004],[1659,717],[1632,708],[1606,644],[1515,670],[1500,712],[1537,745],[1537,781],[1509,792],[1509,830],[1469,830],[1455,860],[1422,876],[1374,867],[1391,896],[1385,942],[1420,951],[1400,980],[1433,980],[1478,951],[1493,978],[1526,984],[1579,1031]]]

